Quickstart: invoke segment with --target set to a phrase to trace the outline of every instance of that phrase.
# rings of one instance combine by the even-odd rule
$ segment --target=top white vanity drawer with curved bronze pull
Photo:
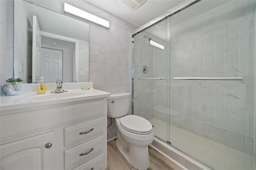
[[[64,128],[64,146],[67,147],[82,140],[90,140],[102,135],[103,130],[106,129],[104,125],[104,118],[100,117]]]

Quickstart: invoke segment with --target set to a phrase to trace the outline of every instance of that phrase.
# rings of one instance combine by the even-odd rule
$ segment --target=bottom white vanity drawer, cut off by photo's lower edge
[[[103,170],[104,166],[104,153],[102,153],[72,170]]]

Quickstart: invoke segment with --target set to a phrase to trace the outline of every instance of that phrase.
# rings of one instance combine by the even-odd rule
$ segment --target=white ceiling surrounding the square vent
[[[184,0],[146,0],[146,2],[136,10],[126,8],[120,4],[118,0],[86,1],[118,16],[134,26],[140,27],[182,3]]]

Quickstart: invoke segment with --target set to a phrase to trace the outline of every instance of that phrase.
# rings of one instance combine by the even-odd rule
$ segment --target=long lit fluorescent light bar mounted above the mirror
[[[68,13],[68,14],[72,14],[74,16],[78,16],[80,18],[89,20],[91,22],[94,22],[95,24],[99,24],[101,26],[104,26],[106,28],[109,28],[109,21],[104,20],[98,16],[92,15],[88,12],[85,12],[84,10],[81,10],[79,8],[76,8],[70,4],[64,3],[64,12]]]

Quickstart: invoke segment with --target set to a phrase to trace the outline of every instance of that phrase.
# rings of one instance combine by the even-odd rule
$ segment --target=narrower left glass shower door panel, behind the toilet
[[[170,103],[167,28],[164,20],[133,36],[133,114],[150,121],[155,136],[164,141]]]

